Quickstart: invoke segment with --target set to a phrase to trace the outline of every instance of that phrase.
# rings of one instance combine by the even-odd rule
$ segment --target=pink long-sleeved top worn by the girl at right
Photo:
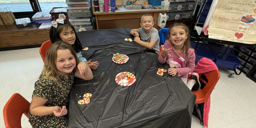
[[[172,48],[170,51],[170,55],[166,55],[164,58],[162,57],[162,53],[159,55],[158,60],[160,63],[167,63],[170,65],[170,67],[176,67],[178,73],[177,75],[179,77],[186,77],[188,73],[191,73],[194,71],[195,68],[195,51],[192,48],[189,48],[187,51],[187,57],[186,57],[186,51],[184,50],[181,54],[178,54],[173,46],[173,44],[170,42],[170,40],[166,40],[164,42],[164,48]]]

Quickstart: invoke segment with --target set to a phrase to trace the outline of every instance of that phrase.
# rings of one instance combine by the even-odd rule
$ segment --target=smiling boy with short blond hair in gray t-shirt
[[[153,28],[154,21],[150,14],[144,14],[141,16],[141,28],[132,29],[130,33],[135,36],[134,41],[148,49],[159,52],[159,36],[158,30]],[[139,38],[141,34],[141,40]]]

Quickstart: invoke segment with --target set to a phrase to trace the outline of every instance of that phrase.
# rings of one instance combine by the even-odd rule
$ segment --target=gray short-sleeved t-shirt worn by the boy
[[[151,40],[156,41],[156,44],[154,45],[154,47],[152,49],[155,50],[156,53],[159,52],[159,41],[160,41],[160,38],[158,36],[158,31],[157,31],[156,28],[152,27],[151,32],[146,33],[144,28],[141,27],[141,28],[137,29],[137,32],[140,33],[141,40],[144,41],[144,42],[150,42]]]

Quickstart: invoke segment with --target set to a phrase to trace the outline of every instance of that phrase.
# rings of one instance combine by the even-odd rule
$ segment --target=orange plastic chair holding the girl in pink
[[[195,104],[201,104],[207,101],[216,83],[220,79],[220,73],[218,70],[213,70],[202,74],[206,76],[208,83],[205,85],[203,89],[199,89],[197,92],[192,91],[197,96]],[[199,78],[201,77],[202,74],[199,74]]]

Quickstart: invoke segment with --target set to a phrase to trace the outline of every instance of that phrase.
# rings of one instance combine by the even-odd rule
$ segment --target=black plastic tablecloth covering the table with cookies
[[[168,73],[156,75],[160,64],[156,53],[136,42],[124,41],[131,37],[128,28],[92,30],[77,35],[88,51],[87,60],[99,61],[92,70],[92,80],[75,78],[70,92],[68,125],[79,127],[191,127],[191,115],[196,96],[182,80]],[[114,53],[125,54],[129,61],[117,64]],[[130,72],[136,77],[131,86],[120,86],[115,76]],[[89,104],[79,105],[84,93],[91,93]]]

